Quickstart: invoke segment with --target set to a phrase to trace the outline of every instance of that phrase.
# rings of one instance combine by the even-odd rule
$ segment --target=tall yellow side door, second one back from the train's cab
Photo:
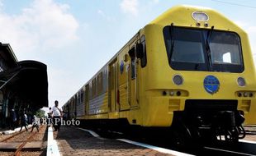
[[[117,86],[117,70],[116,70],[117,59],[109,64],[109,73],[108,73],[108,108],[110,112],[116,112],[117,104],[116,104],[116,86]]]

